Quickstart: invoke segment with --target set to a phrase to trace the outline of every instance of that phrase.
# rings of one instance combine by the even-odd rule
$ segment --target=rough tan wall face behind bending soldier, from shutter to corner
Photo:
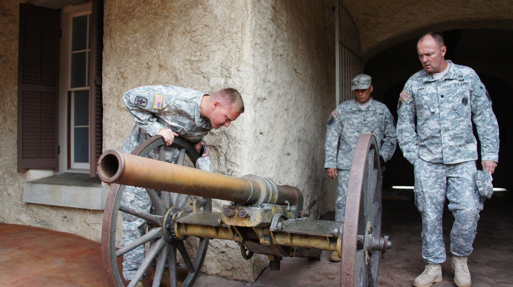
[[[141,85],[173,84],[212,93],[231,86],[251,103],[251,3],[242,1],[160,2],[148,5],[105,2],[104,149],[121,148],[133,126],[122,101],[124,92]],[[247,108],[249,109],[249,108]],[[229,129],[207,136],[215,170],[241,172],[240,141],[247,137],[248,114]],[[216,202],[217,209],[222,203]],[[254,280],[265,258],[245,261],[235,242],[211,240],[203,271]],[[243,267],[243,268],[240,268]]]

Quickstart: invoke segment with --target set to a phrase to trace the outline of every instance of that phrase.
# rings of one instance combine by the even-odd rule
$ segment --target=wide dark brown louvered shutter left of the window
[[[59,10],[19,5],[18,172],[58,170]]]

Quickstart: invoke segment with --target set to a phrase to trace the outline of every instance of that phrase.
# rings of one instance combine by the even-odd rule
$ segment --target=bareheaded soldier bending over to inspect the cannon
[[[122,152],[130,153],[135,147],[152,136],[162,136],[170,146],[175,137],[182,137],[193,143],[201,157],[196,168],[212,171],[203,137],[210,130],[222,126],[228,127],[244,112],[241,94],[227,88],[207,94],[172,85],[152,85],[137,87],[126,92],[123,100],[135,125],[125,143]],[[203,154],[201,148],[203,146]],[[165,160],[176,163],[179,152],[175,148],[166,148]],[[156,152],[148,154],[156,159]],[[143,188],[127,186],[122,204],[143,212],[150,211],[151,201]],[[123,237],[121,245],[126,246],[145,233],[146,220],[123,213]],[[144,246],[140,246],[124,255],[123,276],[131,280],[144,259]],[[142,281],[137,286],[142,286]]]

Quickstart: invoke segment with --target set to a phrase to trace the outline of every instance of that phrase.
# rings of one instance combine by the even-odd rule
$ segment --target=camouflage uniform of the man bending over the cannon
[[[126,92],[123,100],[128,112],[135,121],[130,135],[123,144],[121,151],[130,153],[142,142],[155,136],[162,128],[170,128],[180,137],[195,143],[212,129],[210,120],[200,115],[200,101],[206,93],[185,89],[172,85],[142,86]],[[149,153],[148,158],[156,159],[156,153]],[[176,163],[178,150],[166,148],[165,160]],[[209,157],[202,157],[196,167],[212,171]],[[122,204],[150,212],[151,201],[144,188],[127,186],[122,197]],[[123,214],[122,246],[144,235],[146,220]],[[144,246],[140,246],[124,255],[123,275],[130,280],[139,269],[144,259]]]

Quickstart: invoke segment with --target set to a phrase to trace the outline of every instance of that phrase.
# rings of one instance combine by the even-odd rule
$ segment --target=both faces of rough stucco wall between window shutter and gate
[[[305,202],[323,199],[323,129],[334,94],[334,45],[326,34],[334,28],[322,4],[106,1],[105,149],[120,148],[132,126],[125,91],[164,83],[204,92],[231,86],[246,112],[206,137],[214,170],[296,186]],[[319,206],[316,214],[326,211]],[[245,261],[234,242],[210,242],[209,274],[252,281],[267,265],[265,256]]]

